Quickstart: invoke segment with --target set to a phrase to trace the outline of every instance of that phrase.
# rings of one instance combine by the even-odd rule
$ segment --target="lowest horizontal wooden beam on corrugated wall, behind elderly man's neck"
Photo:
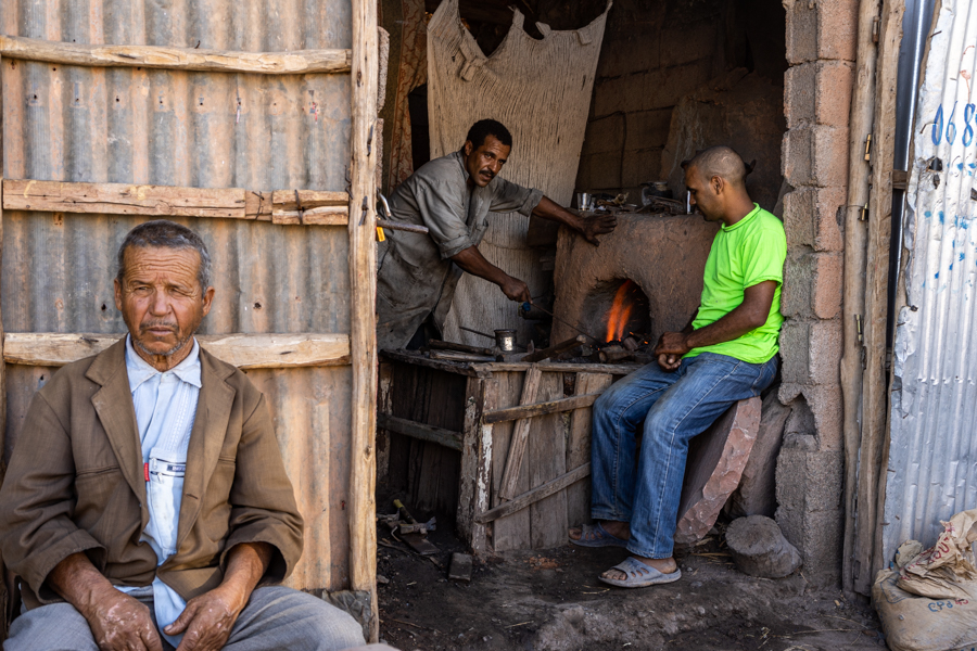
[[[3,360],[25,366],[60,367],[101,353],[123,334],[8,332]],[[350,363],[345,334],[202,334],[208,353],[239,369],[286,369]]]

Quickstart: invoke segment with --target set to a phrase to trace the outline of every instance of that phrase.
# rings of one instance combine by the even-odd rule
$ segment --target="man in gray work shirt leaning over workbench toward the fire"
[[[563,224],[592,244],[617,225],[613,216],[584,219],[497,175],[512,136],[494,119],[472,125],[460,151],[423,165],[390,200],[393,218],[428,227],[428,234],[386,231],[377,278],[377,340],[403,348],[429,316],[441,330],[462,271],[498,285],[512,301],[530,301],[526,284],[486,260],[478,250],[488,213],[521,213]]]

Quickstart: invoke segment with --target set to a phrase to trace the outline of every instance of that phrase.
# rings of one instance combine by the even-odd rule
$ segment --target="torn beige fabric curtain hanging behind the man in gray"
[[[522,29],[523,15],[516,11],[505,40],[485,56],[461,24],[458,0],[444,0],[428,24],[431,157],[460,149],[475,122],[497,119],[513,140],[502,175],[570,205],[610,7],[581,29],[554,31],[537,23],[542,40]],[[525,281],[533,296],[545,292],[551,271],[540,269],[540,252],[526,245],[529,220],[518,213],[492,213],[488,220],[479,246],[485,258]],[[517,329],[520,344],[529,339],[516,304],[495,285],[467,273],[455,292],[444,335],[485,344],[459,326]]]

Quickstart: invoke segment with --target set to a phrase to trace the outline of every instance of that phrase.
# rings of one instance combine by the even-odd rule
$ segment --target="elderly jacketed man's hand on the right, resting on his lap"
[[[177,651],[219,651],[245,603],[236,590],[221,585],[188,601],[176,622],[163,631],[183,634]]]

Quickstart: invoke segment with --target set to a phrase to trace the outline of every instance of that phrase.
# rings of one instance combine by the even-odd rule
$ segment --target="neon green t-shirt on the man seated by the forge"
[[[784,282],[787,238],[779,219],[753,205],[757,207],[750,214],[733,226],[723,226],[712,241],[709,259],[706,260],[702,301],[693,329],[699,330],[719,321],[739,307],[747,288],[775,280],[777,289],[766,323],[731,342],[693,348],[684,357],[716,353],[749,363],[763,363],[777,353],[777,334],[784,322],[781,285]]]

